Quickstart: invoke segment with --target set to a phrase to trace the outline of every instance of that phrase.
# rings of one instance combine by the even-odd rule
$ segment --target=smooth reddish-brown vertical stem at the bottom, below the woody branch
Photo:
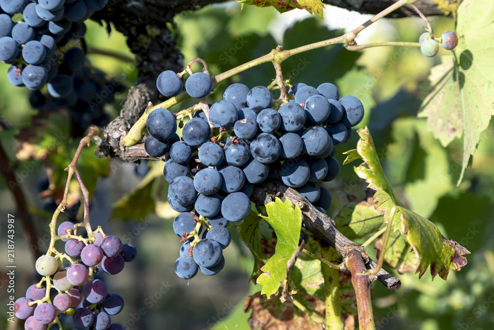
[[[351,250],[346,266],[352,273],[352,284],[357,298],[360,330],[375,330],[371,301],[371,278],[362,259],[362,252]]]

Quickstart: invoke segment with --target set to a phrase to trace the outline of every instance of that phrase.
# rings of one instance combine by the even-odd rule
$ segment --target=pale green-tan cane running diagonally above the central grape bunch
[[[399,0],[395,3],[393,3],[392,5],[390,5],[389,7],[384,9],[383,11],[381,11],[380,13],[373,16],[371,19],[369,19],[364,24],[360,25],[359,27],[357,27],[356,29],[354,29],[352,31],[345,33],[342,36],[335,37],[335,38],[328,39],[328,40],[324,40],[324,41],[320,41],[320,42],[309,44],[309,45],[305,45],[305,46],[301,46],[301,47],[296,47],[293,49],[288,49],[288,50],[283,50],[281,47],[277,47],[275,49],[272,49],[266,55],[263,55],[263,56],[258,57],[256,59],[253,59],[253,60],[248,61],[247,63],[244,63],[242,65],[239,65],[233,69],[230,69],[228,71],[225,71],[223,73],[220,73],[216,76],[211,77],[211,80],[213,82],[213,90],[218,86],[219,83],[221,83],[225,79],[228,79],[228,78],[230,78],[230,77],[232,77],[232,76],[234,76],[240,72],[246,71],[246,70],[253,68],[257,65],[264,64],[267,62],[272,62],[273,65],[275,66],[275,69],[277,70],[277,78],[276,78],[277,84],[280,87],[280,89],[282,90],[282,95],[283,95],[283,90],[285,90],[285,96],[284,97],[286,97],[286,88],[285,88],[285,85],[283,83],[283,76],[281,75],[281,63],[284,60],[286,60],[288,57],[290,57],[292,55],[295,55],[295,54],[298,54],[298,53],[301,53],[301,52],[304,52],[307,50],[311,50],[311,49],[317,49],[317,48],[329,46],[329,45],[344,44],[345,47],[347,47],[349,45],[349,43],[351,41],[353,41],[355,39],[355,37],[357,37],[357,35],[360,32],[362,32],[365,28],[369,27],[372,23],[376,22],[378,19],[386,16],[387,14],[391,13],[392,11],[398,9],[399,7],[405,5],[409,2],[410,2],[410,0]],[[404,46],[416,46],[414,43],[411,43],[411,44],[412,45],[404,45]],[[380,45],[380,46],[389,46],[389,45]],[[371,46],[371,47],[375,47],[375,46]],[[353,49],[353,48],[348,48],[348,47],[347,47],[347,49],[360,50],[360,49]],[[362,48],[362,49],[364,49],[364,48]],[[201,58],[194,58],[193,60],[191,60],[187,64],[187,67],[184,70],[184,72],[177,74],[177,76],[181,78],[182,74],[184,74],[185,72],[188,72],[188,70],[191,73],[192,71],[190,70],[190,64],[192,64],[195,61],[200,61],[201,63],[203,63],[205,66],[204,71],[206,73],[208,73],[206,62]],[[277,66],[279,66],[280,72],[278,72]],[[181,102],[181,101],[183,101],[189,97],[190,97],[189,94],[187,94],[186,91],[183,91],[180,94],[178,94],[174,97],[171,97],[171,98],[165,100],[164,102],[157,104],[157,105],[153,106],[152,108],[144,111],[142,116],[135,122],[135,124],[130,128],[128,133],[125,135],[124,140],[123,140],[124,146],[132,146],[132,145],[134,145],[137,142],[142,140],[142,129],[144,128],[144,125],[146,124],[147,116],[149,115],[149,113],[151,111],[153,111],[154,109],[158,109],[158,108],[167,109],[170,106],[175,105],[175,104],[177,104],[177,103],[179,103],[179,102]],[[280,99],[280,101],[281,101],[281,99]]]

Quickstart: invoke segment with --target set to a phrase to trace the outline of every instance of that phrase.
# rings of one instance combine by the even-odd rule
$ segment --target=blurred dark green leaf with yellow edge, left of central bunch
[[[144,218],[155,210],[153,199],[154,179],[163,174],[163,166],[153,166],[141,182],[132,191],[112,204],[112,218],[129,221]],[[136,207],[138,205],[138,207]]]

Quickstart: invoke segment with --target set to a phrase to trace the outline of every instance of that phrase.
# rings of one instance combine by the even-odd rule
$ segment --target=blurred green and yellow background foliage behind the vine
[[[355,12],[329,7],[325,20],[316,19],[305,11],[293,10],[279,14],[271,8],[227,3],[197,11],[185,11],[176,19],[175,33],[185,62],[194,57],[204,58],[211,75],[226,71],[253,58],[268,53],[276,45],[285,49],[302,46],[340,35],[364,22],[366,17]],[[116,51],[132,56],[125,45],[125,37],[115,31],[110,35],[106,27],[88,21],[86,42],[91,47]],[[434,18],[433,28],[442,33],[453,30],[450,18]],[[416,41],[423,32],[423,21],[417,18],[380,20],[372,25],[357,42]],[[415,274],[391,273],[402,280],[402,287],[388,291],[381,283],[373,283],[373,305],[376,329],[492,329],[494,324],[494,142],[493,128],[484,132],[473,166],[466,171],[462,183],[455,183],[460,173],[461,141],[443,148],[427,131],[425,120],[417,119],[421,100],[427,94],[427,76],[440,56],[449,56],[444,49],[438,56],[427,58],[418,48],[377,47],[363,52],[350,52],[341,46],[326,47],[301,53],[282,64],[285,78],[290,82],[304,82],[318,86],[335,83],[341,95],[355,95],[366,107],[366,117],[360,127],[368,125],[380,155],[386,175],[404,204],[421,216],[429,218],[444,236],[465,246],[471,255],[460,271],[452,271],[448,281],[431,281],[426,273],[422,279]],[[88,56],[92,65],[110,75],[123,73],[128,82],[137,72],[130,64],[105,55]],[[15,135],[22,127],[32,124],[36,113],[28,101],[29,92],[10,85],[6,79],[7,65],[0,65],[1,119],[12,125],[0,132],[0,139],[9,158],[14,161]],[[200,70],[199,66],[193,67]],[[242,82],[249,88],[267,86],[275,77],[271,64],[264,64],[223,82],[211,95],[210,102],[220,99],[226,86]],[[119,96],[119,95],[118,95]],[[119,112],[124,93],[106,111],[112,118]],[[172,111],[190,106],[192,101],[176,105]],[[68,164],[73,156],[69,145],[78,141],[63,141],[57,149],[61,155],[47,162]],[[346,148],[357,141],[353,134]],[[336,148],[336,158],[346,149]],[[81,157],[89,161],[92,151]],[[105,233],[122,237],[138,249],[138,257],[125,270],[111,278],[109,291],[124,296],[124,312],[112,318],[130,329],[249,329],[248,315],[244,314],[244,299],[259,288],[248,283],[252,257],[238,239],[225,250],[226,266],[217,276],[199,275],[191,281],[179,279],[173,271],[178,256],[179,238],[172,231],[175,216],[166,203],[166,182],[162,178],[163,164],[150,164],[152,170],[144,181],[135,174],[134,164],[117,160],[89,166],[107,168],[109,176],[100,178],[91,200],[91,224],[103,226]],[[66,166],[66,165],[65,165]],[[365,185],[353,172],[353,164],[342,166],[338,178],[328,183],[333,193],[333,206],[328,211],[335,216],[347,203],[346,194],[364,197]],[[63,168],[63,167],[62,167]],[[26,170],[21,186],[28,198],[29,208],[36,220],[39,233],[37,248],[44,252],[48,246],[50,200],[38,195],[39,183],[46,178],[43,164],[20,162],[18,172]],[[94,178],[96,174],[87,171]],[[102,171],[106,172],[106,171]],[[59,173],[60,180],[66,178]],[[88,179],[89,180],[89,179]],[[0,180],[1,217],[15,212],[8,183]],[[6,222],[1,222],[5,233]],[[235,228],[230,227],[232,233]],[[3,235],[3,234],[2,234]],[[233,235],[236,237],[236,235]],[[2,238],[2,251],[5,247]],[[371,255],[373,247],[368,248]],[[23,240],[22,227],[16,222],[16,296],[37,282],[34,258]],[[22,260],[22,261],[21,261]],[[2,285],[5,281],[4,269]],[[108,279],[110,280],[110,279]],[[6,301],[6,290],[0,290]],[[2,324],[7,324],[5,308],[0,313]],[[21,329],[8,325],[9,329]],[[65,328],[64,328],[65,329]],[[68,328],[69,329],[69,328]]]

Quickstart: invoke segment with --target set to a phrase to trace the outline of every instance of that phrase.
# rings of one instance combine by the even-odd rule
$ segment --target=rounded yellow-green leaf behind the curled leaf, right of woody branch
[[[382,211],[376,210],[368,201],[352,201],[334,217],[336,228],[351,240],[373,234],[382,226]]]

